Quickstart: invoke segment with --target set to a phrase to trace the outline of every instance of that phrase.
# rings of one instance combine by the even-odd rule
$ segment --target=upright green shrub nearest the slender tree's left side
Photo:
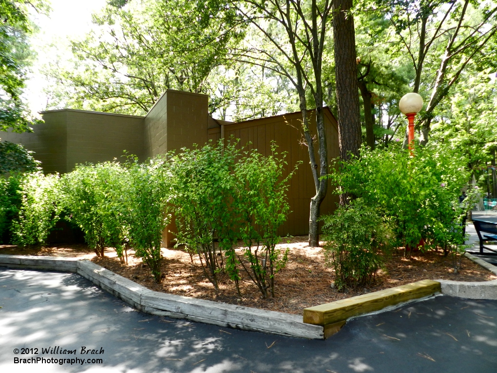
[[[278,158],[275,150],[273,144],[272,154],[268,157],[256,151],[248,152],[247,158],[241,160],[235,170],[240,235],[250,270],[243,262],[242,265],[264,298],[268,288],[274,297],[274,276],[288,260],[288,249],[282,253],[276,245],[281,241],[278,227],[290,212],[286,196],[288,182],[298,167],[282,178],[285,155]]]

